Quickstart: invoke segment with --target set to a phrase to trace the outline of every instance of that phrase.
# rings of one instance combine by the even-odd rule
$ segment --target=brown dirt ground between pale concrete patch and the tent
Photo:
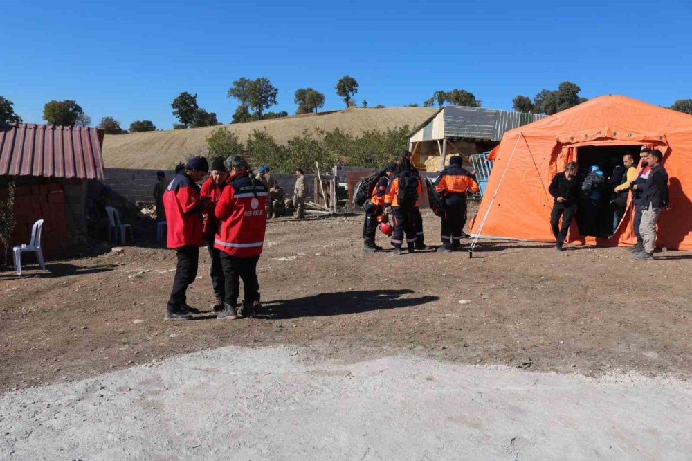
[[[439,222],[424,215],[428,244]],[[688,380],[692,254],[481,242],[458,253],[361,251],[362,217],[271,222],[259,264],[266,313],[163,322],[175,255],[125,247],[0,272],[0,390],[72,381],[224,345],[300,346],[307,360],[432,356],[599,376]],[[152,233],[154,231],[152,230]],[[379,244],[388,247],[379,235]],[[141,241],[142,239],[139,238]],[[201,249],[190,305],[208,310]]]

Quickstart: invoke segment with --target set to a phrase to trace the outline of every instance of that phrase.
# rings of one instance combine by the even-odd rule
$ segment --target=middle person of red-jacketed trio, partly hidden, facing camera
[[[228,170],[224,165],[224,158],[217,157],[212,161],[211,174],[209,179],[202,184],[201,196],[209,197],[209,204],[204,211],[207,219],[204,222],[204,242],[206,243],[211,268],[209,275],[212,279],[212,289],[214,290],[214,304],[212,309],[221,311],[224,309],[224,269],[221,267],[221,251],[214,248],[214,235],[219,227],[219,219],[214,215],[214,208],[221,199],[221,192],[224,191],[228,181]]]

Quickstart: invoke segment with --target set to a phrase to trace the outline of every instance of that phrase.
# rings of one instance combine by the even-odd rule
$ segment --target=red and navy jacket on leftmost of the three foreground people
[[[202,204],[199,187],[187,174],[174,177],[163,192],[163,207],[166,210],[168,248],[201,246]]]

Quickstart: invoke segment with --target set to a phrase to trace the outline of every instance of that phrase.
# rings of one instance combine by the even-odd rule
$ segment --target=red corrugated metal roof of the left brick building
[[[0,125],[0,176],[103,178],[103,132],[57,125]]]

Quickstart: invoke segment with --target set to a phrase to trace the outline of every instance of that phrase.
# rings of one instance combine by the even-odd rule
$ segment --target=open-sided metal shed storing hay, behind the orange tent
[[[440,171],[447,154],[468,156],[491,150],[510,129],[545,116],[484,107],[446,106],[439,109],[409,139],[409,150],[417,168]],[[466,163],[465,162],[465,163]]]

